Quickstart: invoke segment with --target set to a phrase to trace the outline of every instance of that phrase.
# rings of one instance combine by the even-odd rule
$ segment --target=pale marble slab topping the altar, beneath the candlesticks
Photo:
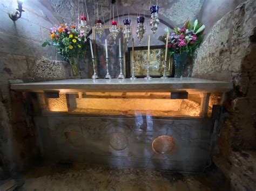
[[[192,77],[160,79],[69,79],[46,82],[11,84],[16,91],[42,93],[57,91],[59,93],[78,92],[179,92],[188,93],[225,93],[233,89],[232,82],[197,79]]]

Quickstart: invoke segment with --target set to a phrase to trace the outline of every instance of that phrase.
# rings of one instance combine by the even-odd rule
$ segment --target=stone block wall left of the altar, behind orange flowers
[[[69,74],[55,48],[41,46],[52,24],[59,23],[48,9],[25,1],[21,19],[12,22],[8,12],[17,2],[3,0],[0,6],[0,169],[2,164],[6,172],[22,169],[37,155],[33,126],[27,125],[24,114],[25,97],[10,91],[9,80],[66,79]]]

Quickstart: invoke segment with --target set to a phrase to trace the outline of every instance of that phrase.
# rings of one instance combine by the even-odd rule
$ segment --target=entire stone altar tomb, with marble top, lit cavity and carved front
[[[12,84],[36,93],[33,121],[45,159],[200,172],[219,125],[210,117],[229,82],[192,78]],[[213,98],[214,97],[214,98]]]

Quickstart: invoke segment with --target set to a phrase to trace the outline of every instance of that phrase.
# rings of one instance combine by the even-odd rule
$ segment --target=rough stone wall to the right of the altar
[[[235,190],[256,187],[256,3],[246,1],[212,27],[194,60],[193,77],[233,81],[226,95],[230,113],[218,139],[215,164]]]

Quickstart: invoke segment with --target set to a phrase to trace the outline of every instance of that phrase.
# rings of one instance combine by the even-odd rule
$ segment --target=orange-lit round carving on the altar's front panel
[[[167,135],[159,136],[152,142],[153,151],[159,154],[169,154],[174,147],[173,137]]]

